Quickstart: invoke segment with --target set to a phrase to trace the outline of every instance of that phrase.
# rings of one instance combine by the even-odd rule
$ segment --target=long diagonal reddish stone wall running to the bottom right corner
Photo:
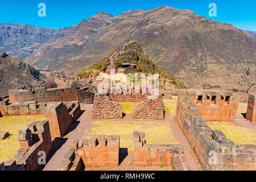
[[[187,93],[187,94],[185,94]],[[180,90],[175,120],[205,170],[256,170],[256,146],[236,144],[218,130],[211,130],[192,103],[194,90]],[[201,93],[207,95],[207,92]],[[219,96],[225,96],[219,93]],[[230,101],[233,93],[230,93]],[[195,96],[194,96],[195,97]],[[233,98],[236,98],[235,95]],[[236,100],[237,101],[237,100]],[[220,107],[221,108],[221,107]]]

